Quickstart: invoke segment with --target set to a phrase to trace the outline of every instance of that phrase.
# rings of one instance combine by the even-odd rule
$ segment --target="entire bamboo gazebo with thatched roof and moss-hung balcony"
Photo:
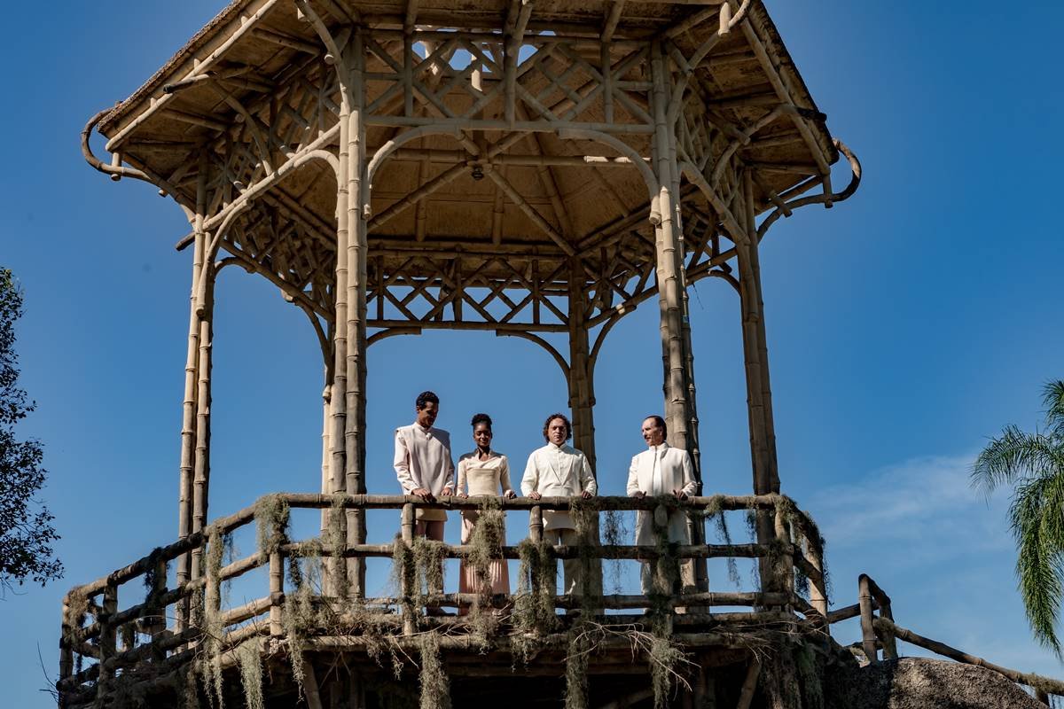
[[[109,158],[93,152],[94,130]],[[802,644],[824,639],[829,613],[815,526],[779,494],[758,252],[780,217],[850,197],[860,165],[760,2],[235,0],[94,116],[82,147],[97,170],[150,182],[185,212],[192,231],[177,248],[192,254],[192,307],[177,541],[68,594],[66,706],[204,695],[256,709],[297,697],[312,709],[384,706],[417,687],[402,679],[415,671],[422,707],[445,706],[448,682],[455,702],[550,704],[543,688],[564,682],[572,708],[674,696],[798,706],[784,678],[830,660]],[[836,191],[841,156],[849,183]],[[275,284],[317,333],[321,493],[270,495],[209,522],[214,286],[231,265]],[[542,510],[573,501],[455,503],[529,510],[521,546],[480,542],[520,559],[525,585],[513,597],[427,598],[426,558],[475,550],[415,541],[414,509],[428,503],[367,494],[367,348],[427,328],[545,348],[568,383],[573,444],[594,461],[597,355],[620,318],[656,298],[669,442],[697,469],[687,287],[709,276],[738,294],[752,494],[683,503],[693,543],[681,547],[594,539],[600,516],[660,500],[577,509],[580,547],[539,537]],[[550,333],[568,336],[568,352]],[[299,508],[322,510],[320,538],[292,539]],[[401,510],[394,544],[367,543],[368,509]],[[755,541],[706,544],[704,516],[731,509],[750,512]],[[222,564],[226,535],[252,521],[256,553]],[[365,561],[380,556],[395,559],[396,597],[367,596]],[[555,596],[552,564],[572,556],[592,569],[601,558],[696,562],[679,594]],[[760,559],[759,589],[711,592],[711,557]],[[305,568],[322,559],[315,586]],[[256,568],[268,569],[265,595],[222,608],[219,584]],[[140,576],[147,596],[120,605],[118,587]],[[481,612],[426,618],[427,602]],[[625,609],[646,613],[614,612]],[[633,653],[649,659],[633,669]],[[761,673],[765,663],[778,672]]]

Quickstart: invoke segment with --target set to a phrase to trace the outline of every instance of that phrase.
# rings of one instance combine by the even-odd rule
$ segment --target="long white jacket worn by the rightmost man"
[[[658,490],[654,490],[655,471],[660,479]],[[698,485],[695,482],[695,469],[691,465],[691,456],[683,449],[662,443],[632,457],[632,465],[628,469],[629,495],[641,491],[649,496],[654,494],[670,495],[672,490],[681,490],[693,495],[697,489]],[[687,516],[681,510],[669,514],[668,540],[681,544],[691,543],[691,535],[687,531]],[[653,512],[641,510],[635,516],[635,543],[658,543],[653,530]]]

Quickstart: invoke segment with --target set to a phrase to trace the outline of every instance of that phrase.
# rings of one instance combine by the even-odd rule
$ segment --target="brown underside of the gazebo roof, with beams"
[[[327,56],[313,24],[299,17],[297,4],[237,0],[222,10],[142,88],[102,116],[98,128],[110,138],[109,150],[159,178],[190,208],[202,178],[213,190],[210,216],[285,154],[334,128],[340,97],[333,57]],[[401,134],[411,116],[450,118],[454,124],[479,103],[473,114],[479,128],[463,133],[454,128],[451,134],[406,142],[377,171],[368,227],[370,270],[378,272],[382,285],[385,272],[400,269],[406,275],[436,277],[440,264],[422,264],[418,256],[427,251],[450,258],[479,252],[504,256],[480,263],[477,275],[487,278],[485,284],[510,278],[508,287],[521,287],[520,278],[530,277],[534,259],[572,256],[595,260],[592,270],[599,271],[599,278],[624,283],[639,274],[648,277],[653,263],[650,197],[631,159],[637,153],[650,161],[654,152],[649,38],[670,40],[674,54],[667,61],[674,62],[677,81],[692,75],[679,119],[680,150],[700,155],[684,152],[680,157],[700,163],[708,172],[721,155],[722,162],[739,161],[752,168],[758,212],[779,204],[778,196],[796,185],[826,179],[828,166],[837,159],[824,116],[759,2],[750,3],[742,28],[716,37],[721,6],[712,0],[527,4],[532,11],[519,54],[516,115],[510,118],[526,126],[546,121],[547,130],[514,133],[508,130],[500,84],[502,46],[512,30],[508,18],[519,3],[312,3],[340,36],[351,37],[344,28],[352,22],[367,28],[369,156]],[[426,89],[413,113],[410,99],[404,106],[402,94],[396,94],[403,81],[399,70],[405,54],[404,26],[417,33],[413,81]],[[456,31],[439,31],[446,28]],[[606,50],[603,33],[610,35]],[[430,36],[431,41],[418,44]],[[697,54],[708,40],[715,41],[712,52],[689,70],[684,57]],[[466,66],[470,58],[481,69],[476,87]],[[622,87],[609,105],[602,98],[609,89],[597,88],[604,81],[606,58],[610,80]],[[772,113],[782,104],[788,109]],[[604,145],[573,133],[565,128],[566,119],[608,130],[620,125],[624,130],[613,135],[621,142]],[[749,135],[738,136],[742,131]],[[328,142],[336,145],[337,138]],[[470,144],[479,155],[471,154]],[[204,147],[213,155],[209,164],[199,157]],[[601,166],[603,159],[612,167],[587,164]],[[737,180],[728,174],[721,179],[731,181],[722,189],[734,196]],[[418,190],[428,196],[413,199]],[[728,235],[718,229],[714,209],[699,190],[684,193],[688,249],[717,256],[720,263],[717,236]],[[233,226],[245,233],[234,237],[236,241],[250,240],[250,252],[269,239],[249,233],[264,225],[288,229],[287,254],[273,247],[273,260],[284,261],[293,273],[305,273],[300,276],[304,284],[311,273],[328,270],[322,265],[334,259],[336,184],[327,164],[300,168],[257,202]],[[286,225],[278,226],[282,222]],[[278,270],[279,277],[295,278]],[[568,271],[560,272],[560,282],[567,277]]]

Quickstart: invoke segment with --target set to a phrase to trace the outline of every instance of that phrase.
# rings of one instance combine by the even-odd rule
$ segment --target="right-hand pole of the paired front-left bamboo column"
[[[366,239],[366,209],[368,185],[366,170],[366,126],[364,123],[365,91],[363,71],[365,51],[362,31],[355,29],[347,48],[345,74],[348,80],[351,111],[347,117],[347,418],[344,431],[345,476],[344,491],[348,494],[366,492],[366,286],[368,246]],[[337,258],[343,258],[337,251]],[[337,318],[337,323],[340,320]],[[366,539],[366,518],[362,509],[349,509],[347,517],[347,543],[361,544]],[[365,595],[366,562],[362,558],[348,559],[346,573],[351,593]]]

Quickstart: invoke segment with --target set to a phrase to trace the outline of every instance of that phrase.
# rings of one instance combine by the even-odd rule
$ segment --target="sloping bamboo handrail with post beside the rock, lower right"
[[[877,610],[879,611],[878,615],[876,614]],[[891,597],[867,574],[861,574],[858,577],[858,603],[828,613],[828,623],[834,624],[857,617],[861,618],[861,652],[871,664],[880,662],[880,649],[883,651],[884,660],[898,659],[897,640],[900,638],[936,655],[965,664],[985,668],[1018,685],[1026,685],[1046,706],[1049,706],[1049,695],[1064,696],[1064,681],[1003,668],[895,624],[891,610]]]

